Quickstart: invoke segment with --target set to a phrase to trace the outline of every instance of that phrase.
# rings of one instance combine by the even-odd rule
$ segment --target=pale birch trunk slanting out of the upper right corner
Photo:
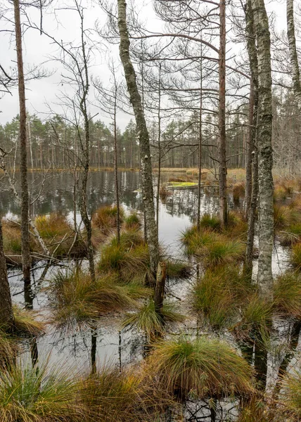
[[[294,0],[286,0],[286,19],[288,25],[288,48],[290,51],[290,65],[292,67],[293,90],[297,101],[297,107],[301,112],[301,83],[295,37]]]

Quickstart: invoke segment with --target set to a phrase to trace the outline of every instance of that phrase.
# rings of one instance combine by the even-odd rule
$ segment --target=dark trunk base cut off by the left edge
[[[0,326],[8,329],[13,326],[13,307],[11,304],[11,290],[9,289],[6,260],[3,250],[2,225],[0,219]]]

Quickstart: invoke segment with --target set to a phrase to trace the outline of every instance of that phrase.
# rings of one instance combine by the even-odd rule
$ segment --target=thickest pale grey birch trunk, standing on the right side
[[[273,210],[273,153],[271,148],[272,106],[271,106],[271,41],[269,21],[264,0],[252,0],[258,58],[258,186],[259,186],[259,260],[258,288],[260,295],[272,300],[273,276],[271,255],[274,245]]]

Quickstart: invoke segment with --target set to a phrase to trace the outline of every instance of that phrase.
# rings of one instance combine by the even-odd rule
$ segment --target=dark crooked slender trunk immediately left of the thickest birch
[[[245,8],[245,35],[250,61],[250,112],[248,133],[248,165],[246,176],[246,217],[248,218],[248,240],[245,253],[245,270],[252,278],[252,255],[255,236],[255,221],[258,197],[258,149],[257,149],[257,114],[258,114],[258,60],[252,0],[247,0]],[[249,167],[251,166],[251,167]],[[250,209],[249,209],[250,208]]]

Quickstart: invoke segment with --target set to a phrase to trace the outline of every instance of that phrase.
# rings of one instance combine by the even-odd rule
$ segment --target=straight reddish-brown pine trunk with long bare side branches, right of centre
[[[226,1],[219,3],[219,217],[228,222],[226,200]]]

